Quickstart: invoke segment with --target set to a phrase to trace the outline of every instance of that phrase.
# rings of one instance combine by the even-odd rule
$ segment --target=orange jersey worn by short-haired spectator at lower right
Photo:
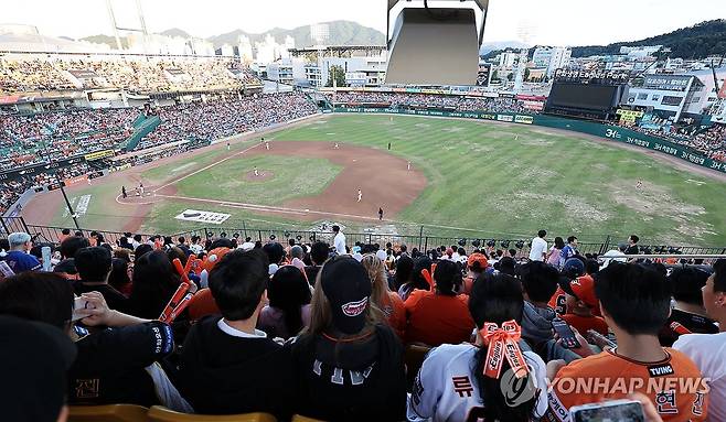
[[[663,421],[704,421],[706,380],[686,355],[663,350],[666,357],[658,363],[631,360],[610,350],[567,365],[553,381],[544,421],[572,422],[572,407],[624,399],[631,392],[645,394]]]

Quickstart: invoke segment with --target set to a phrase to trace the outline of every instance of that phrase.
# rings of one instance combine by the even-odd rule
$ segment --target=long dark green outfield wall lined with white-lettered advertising
[[[634,130],[595,123],[590,121],[564,119],[554,116],[544,115],[517,115],[517,113],[491,113],[491,112],[458,112],[458,111],[434,111],[434,110],[408,110],[392,108],[366,108],[366,107],[337,107],[335,112],[370,112],[370,113],[395,113],[395,115],[417,115],[417,116],[436,116],[436,117],[459,117],[466,119],[497,120],[514,122],[520,125],[536,125],[548,128],[564,129],[575,132],[588,133],[596,137],[605,138],[617,142],[628,143],[653,151],[660,151],[673,155],[681,160],[702,167],[726,173],[726,163],[712,160],[700,152],[666,141],[661,138],[636,132]]]

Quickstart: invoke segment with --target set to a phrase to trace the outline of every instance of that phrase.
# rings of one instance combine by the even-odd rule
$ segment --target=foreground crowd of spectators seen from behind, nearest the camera
[[[529,257],[351,247],[333,231],[333,248],[223,235],[108,244],[70,230],[52,244],[0,239],[14,272],[0,280],[1,332],[47,346],[0,348],[3,414],[55,421],[67,404],[132,403],[278,420],[562,422],[575,405],[629,398],[636,420],[726,418],[725,260],[638,260],[637,236],[598,260],[574,236],[548,248],[545,230]],[[191,300],[167,318],[180,286]],[[36,370],[42,400],[20,382]]]

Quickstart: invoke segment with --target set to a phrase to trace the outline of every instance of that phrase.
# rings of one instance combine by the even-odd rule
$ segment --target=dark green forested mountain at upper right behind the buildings
[[[573,47],[573,57],[618,54],[621,46],[636,45],[663,45],[671,48],[671,57],[681,58],[697,59],[709,55],[726,55],[726,20],[705,21],[639,41]]]

